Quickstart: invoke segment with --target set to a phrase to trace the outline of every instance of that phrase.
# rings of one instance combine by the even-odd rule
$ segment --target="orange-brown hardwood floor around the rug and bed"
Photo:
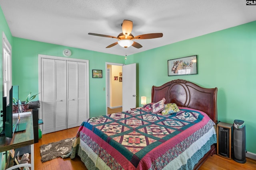
[[[76,136],[78,127],[48,133],[42,135],[42,139],[34,144],[34,162],[35,170],[87,170],[84,163],[80,160],[79,156],[74,159],[70,158],[56,158],[47,162],[41,162],[40,146],[51,142],[57,142],[62,139]],[[256,169],[256,161],[246,158],[245,164],[240,164],[234,160],[228,160],[218,155],[210,156],[206,162],[199,168],[199,170],[253,170]]]

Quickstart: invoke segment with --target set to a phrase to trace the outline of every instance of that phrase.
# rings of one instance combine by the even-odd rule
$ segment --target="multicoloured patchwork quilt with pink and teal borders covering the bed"
[[[146,108],[92,117],[80,126],[71,158],[88,169],[193,169],[216,143],[215,123],[202,111],[172,115]]]

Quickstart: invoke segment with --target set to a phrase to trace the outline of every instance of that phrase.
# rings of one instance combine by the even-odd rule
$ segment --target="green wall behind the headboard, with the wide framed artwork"
[[[256,21],[128,56],[128,63],[138,64],[137,96],[146,96],[151,102],[153,85],[175,79],[217,87],[218,120],[244,120],[246,149],[256,153],[255,30]],[[198,55],[198,74],[168,76],[168,60],[191,55]]]

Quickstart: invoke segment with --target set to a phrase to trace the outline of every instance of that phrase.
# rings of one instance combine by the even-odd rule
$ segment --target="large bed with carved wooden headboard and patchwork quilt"
[[[216,153],[217,88],[172,80],[153,86],[151,99],[142,108],[85,120],[69,156],[80,156],[89,170],[190,170]],[[163,100],[178,112],[153,113]]]

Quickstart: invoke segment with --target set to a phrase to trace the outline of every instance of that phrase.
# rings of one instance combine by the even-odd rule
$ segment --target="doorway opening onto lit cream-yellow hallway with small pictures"
[[[122,66],[106,63],[106,115],[122,111]]]

